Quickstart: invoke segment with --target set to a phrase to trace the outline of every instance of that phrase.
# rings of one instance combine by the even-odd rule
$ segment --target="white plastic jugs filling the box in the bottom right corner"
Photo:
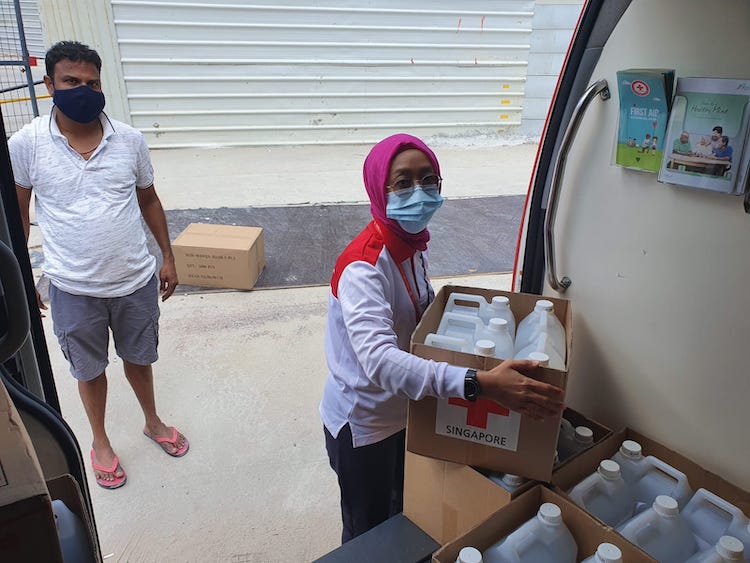
[[[661,562],[750,561],[750,521],[684,473],[625,440],[575,485],[573,502]]]

